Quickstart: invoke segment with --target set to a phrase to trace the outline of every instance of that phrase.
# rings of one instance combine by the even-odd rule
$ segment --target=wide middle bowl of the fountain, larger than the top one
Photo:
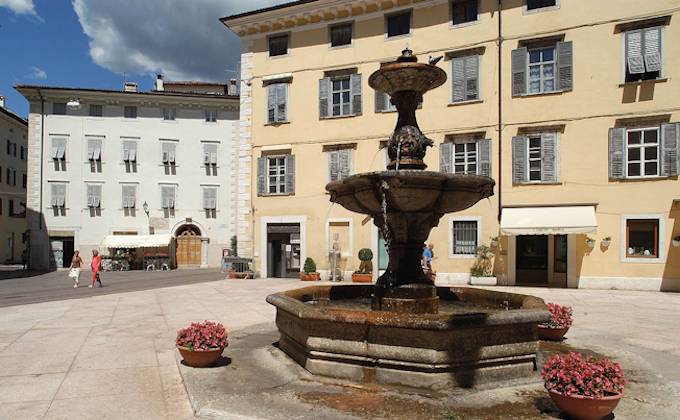
[[[388,213],[445,214],[491,197],[495,184],[486,176],[402,169],[352,175],[328,183],[326,190],[331,202],[361,214],[382,213],[383,194]]]

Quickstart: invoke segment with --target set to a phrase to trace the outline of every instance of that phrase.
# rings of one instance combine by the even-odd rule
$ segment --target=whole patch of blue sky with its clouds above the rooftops
[[[151,89],[170,80],[236,77],[240,43],[218,18],[282,0],[0,0],[0,95],[26,116],[14,86]]]

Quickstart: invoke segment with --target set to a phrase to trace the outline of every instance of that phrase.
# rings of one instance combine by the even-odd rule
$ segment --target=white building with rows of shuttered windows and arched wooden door
[[[31,268],[149,234],[171,238],[172,266],[219,266],[236,235],[239,99],[225,85],[187,86],[171,91],[160,76],[151,92],[17,86],[30,103]]]

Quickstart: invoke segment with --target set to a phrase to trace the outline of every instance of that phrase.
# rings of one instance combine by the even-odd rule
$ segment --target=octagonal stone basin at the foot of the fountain
[[[276,293],[280,348],[315,375],[415,388],[475,387],[531,376],[542,299],[439,287],[439,313],[371,310],[373,286]]]

